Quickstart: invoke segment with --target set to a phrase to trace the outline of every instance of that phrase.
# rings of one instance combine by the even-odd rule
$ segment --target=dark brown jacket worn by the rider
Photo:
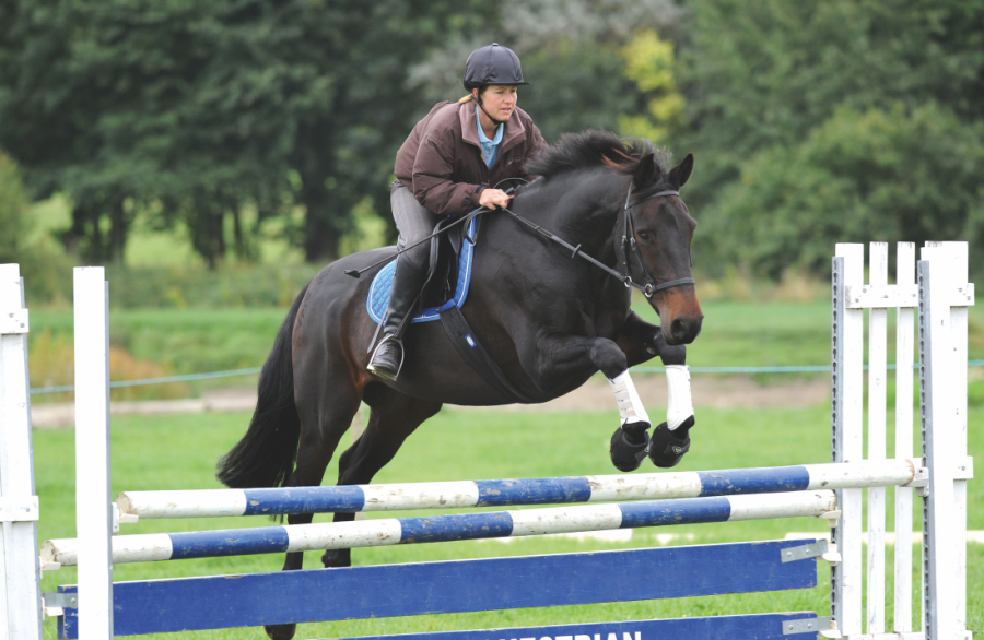
[[[546,146],[540,130],[517,107],[505,125],[499,158],[490,169],[482,159],[475,103],[438,103],[397,152],[394,173],[427,210],[460,215],[478,209],[482,189],[503,178],[525,177],[523,165]]]

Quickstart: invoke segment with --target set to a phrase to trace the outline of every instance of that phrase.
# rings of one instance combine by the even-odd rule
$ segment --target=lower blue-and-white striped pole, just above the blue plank
[[[283,552],[343,549],[425,542],[517,537],[640,526],[819,517],[835,511],[832,490],[793,491],[519,511],[391,518],[191,533],[152,533],[113,538],[113,562],[144,562]],[[50,540],[46,562],[72,566],[78,542]]]

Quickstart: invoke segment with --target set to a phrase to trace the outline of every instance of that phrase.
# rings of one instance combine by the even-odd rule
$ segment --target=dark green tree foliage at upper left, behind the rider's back
[[[66,240],[91,260],[120,261],[148,210],[210,266],[249,259],[244,210],[260,224],[295,205],[284,233],[333,258],[366,197],[388,209],[394,153],[429,106],[408,67],[489,16],[446,0],[17,0],[0,9],[0,143],[40,195],[70,194]]]

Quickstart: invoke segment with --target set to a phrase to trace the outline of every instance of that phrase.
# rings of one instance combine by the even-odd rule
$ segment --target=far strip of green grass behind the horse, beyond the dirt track
[[[652,308],[635,305],[648,321]],[[829,303],[735,303],[704,305],[704,328],[688,347],[691,366],[827,365],[830,363]],[[286,310],[110,309],[109,335],[138,358],[174,367],[179,374],[260,366]],[[971,359],[984,358],[984,315],[972,312]],[[889,344],[894,345],[894,315]],[[71,311],[32,311],[31,330],[72,331]],[[890,349],[889,359],[892,359]],[[655,363],[658,364],[658,360]]]

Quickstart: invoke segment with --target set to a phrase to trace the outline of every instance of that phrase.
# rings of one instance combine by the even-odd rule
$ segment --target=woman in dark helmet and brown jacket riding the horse
[[[399,248],[429,236],[442,217],[508,205],[511,197],[495,186],[524,176],[526,161],[547,146],[516,107],[520,84],[529,83],[512,49],[496,43],[476,49],[465,63],[470,94],[438,103],[410,132],[390,187]],[[424,242],[397,259],[383,337],[366,367],[380,378],[396,380],[402,367],[402,337],[426,280],[429,250]]]

